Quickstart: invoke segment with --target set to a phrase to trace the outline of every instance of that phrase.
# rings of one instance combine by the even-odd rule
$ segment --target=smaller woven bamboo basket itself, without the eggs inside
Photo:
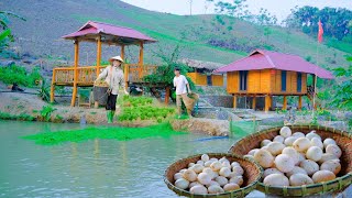
[[[241,187],[238,190],[229,191],[224,194],[209,194],[209,195],[193,195],[187,190],[177,188],[174,186],[175,179],[174,175],[178,173],[183,168],[187,168],[189,163],[195,163],[200,160],[201,154],[189,156],[187,158],[182,158],[174,164],[172,164],[166,170],[164,175],[164,182],[166,183],[167,187],[175,191],[179,196],[186,196],[186,197],[244,197],[249,193],[251,193],[253,189],[255,189],[257,182],[261,179],[263,175],[263,168],[257,165],[254,161],[250,158],[242,158],[239,156],[235,156],[233,154],[229,153],[208,153],[209,157],[217,157],[221,158],[226,156],[231,163],[238,162],[242,168],[244,169],[243,174],[243,187]]]

